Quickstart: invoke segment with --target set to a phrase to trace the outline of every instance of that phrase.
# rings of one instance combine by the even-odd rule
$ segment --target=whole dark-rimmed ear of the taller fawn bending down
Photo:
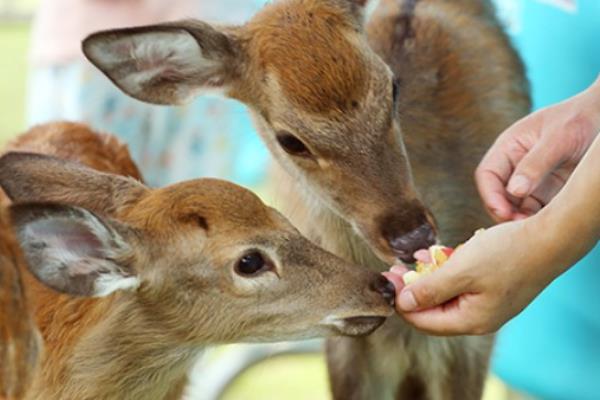
[[[226,90],[243,59],[233,35],[199,21],[94,33],[83,41],[83,52],[122,91],[154,104]]]

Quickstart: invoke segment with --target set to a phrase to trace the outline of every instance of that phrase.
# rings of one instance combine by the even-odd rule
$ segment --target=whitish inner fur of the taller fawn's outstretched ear
[[[98,41],[89,48],[90,56],[109,75],[125,63],[135,63],[135,71],[119,76],[116,80],[131,94],[140,94],[149,82],[165,79],[181,83],[177,97],[187,99],[197,88],[188,78],[198,74],[217,72],[219,60],[203,56],[196,39],[185,30],[173,32],[147,32],[122,35]],[[184,81],[184,82],[182,82]]]

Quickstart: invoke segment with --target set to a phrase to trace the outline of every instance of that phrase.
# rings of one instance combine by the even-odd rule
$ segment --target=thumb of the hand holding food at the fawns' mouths
[[[412,283],[397,297],[398,311],[412,312],[439,306],[462,294],[466,289],[466,279],[460,270],[448,264]]]

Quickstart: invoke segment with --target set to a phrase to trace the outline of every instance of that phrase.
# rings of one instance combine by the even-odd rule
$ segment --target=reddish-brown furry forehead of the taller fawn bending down
[[[292,105],[345,112],[368,92],[366,42],[347,11],[322,1],[275,3],[248,25],[252,59]]]

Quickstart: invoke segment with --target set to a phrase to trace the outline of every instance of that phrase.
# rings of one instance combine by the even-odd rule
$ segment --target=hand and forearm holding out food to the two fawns
[[[404,285],[404,266],[384,275],[396,310],[437,335],[486,334],[518,314],[600,240],[600,137],[540,212],[481,231],[430,275]],[[427,251],[418,251],[421,261]]]

